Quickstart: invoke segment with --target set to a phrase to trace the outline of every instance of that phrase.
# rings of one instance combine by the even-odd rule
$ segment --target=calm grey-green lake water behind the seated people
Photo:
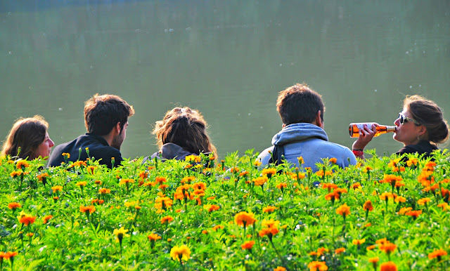
[[[84,101],[134,106],[124,157],[158,148],[150,131],[176,105],[203,112],[220,157],[269,147],[279,91],[323,95],[330,141],[348,124],[392,124],[405,95],[450,119],[450,1],[0,2],[0,138],[41,114],[56,144],[85,132]],[[399,150],[391,135],[368,148]]]

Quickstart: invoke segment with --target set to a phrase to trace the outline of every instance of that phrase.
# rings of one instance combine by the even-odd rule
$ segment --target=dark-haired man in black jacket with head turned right
[[[117,95],[94,95],[84,103],[87,133],[56,146],[49,159],[49,166],[60,166],[65,161],[63,153],[70,154],[68,161],[95,158],[108,168],[120,165],[123,160],[120,146],[127,135],[128,117],[133,114],[133,107]]]

